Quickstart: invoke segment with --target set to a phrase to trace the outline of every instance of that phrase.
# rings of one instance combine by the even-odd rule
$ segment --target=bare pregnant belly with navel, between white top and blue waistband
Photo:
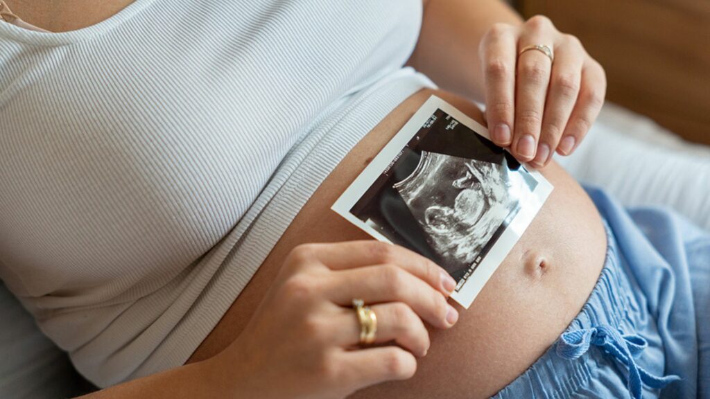
[[[236,339],[294,246],[371,238],[330,206],[431,94],[482,121],[475,104],[430,89],[395,108],[324,180],[187,363],[214,356]],[[594,204],[572,177],[554,162],[540,172],[555,190],[471,307],[458,307],[459,322],[446,331],[430,329],[432,344],[415,376],[355,397],[487,398],[520,376],[579,313],[601,273],[606,234]]]

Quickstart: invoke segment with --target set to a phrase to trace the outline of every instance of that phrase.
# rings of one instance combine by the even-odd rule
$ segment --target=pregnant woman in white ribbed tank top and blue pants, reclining
[[[0,277],[106,388],[89,398],[707,395],[710,239],[551,160],[606,82],[547,18],[0,4]],[[329,210],[431,94],[479,121],[485,102],[493,141],[555,186],[469,310],[439,266]]]

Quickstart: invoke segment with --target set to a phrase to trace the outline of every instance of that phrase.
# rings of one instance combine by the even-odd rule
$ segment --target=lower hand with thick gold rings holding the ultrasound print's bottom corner
[[[303,244],[286,258],[239,337],[211,361],[243,398],[344,398],[414,375],[430,339],[447,329],[455,282],[429,259],[378,241]],[[378,320],[376,344],[359,346],[351,307],[364,300]]]

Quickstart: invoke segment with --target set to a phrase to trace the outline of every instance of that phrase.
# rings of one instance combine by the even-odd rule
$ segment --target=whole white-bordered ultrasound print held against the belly
[[[469,307],[551,191],[483,126],[432,96],[332,209],[438,263]]]

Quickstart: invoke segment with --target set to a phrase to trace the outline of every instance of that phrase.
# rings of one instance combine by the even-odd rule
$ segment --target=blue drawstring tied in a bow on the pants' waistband
[[[648,342],[636,334],[623,334],[608,324],[600,324],[588,329],[565,332],[557,342],[557,355],[563,359],[577,359],[589,350],[589,346],[599,346],[622,364],[628,366],[628,390],[634,399],[642,398],[641,383],[651,388],[663,388],[668,383],[678,381],[679,376],[654,376],[634,361],[646,349]]]

